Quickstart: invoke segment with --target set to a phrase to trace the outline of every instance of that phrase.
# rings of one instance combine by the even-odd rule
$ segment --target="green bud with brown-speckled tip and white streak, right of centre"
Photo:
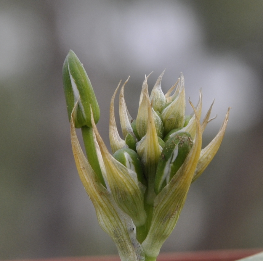
[[[154,183],[154,191],[158,194],[177,173],[193,146],[189,133],[177,133],[166,142],[161,153]]]

